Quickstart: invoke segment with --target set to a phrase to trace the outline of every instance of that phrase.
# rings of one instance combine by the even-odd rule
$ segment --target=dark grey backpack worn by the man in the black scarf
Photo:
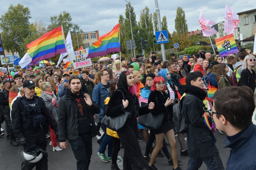
[[[173,104],[172,110],[173,110],[173,125],[174,130],[176,133],[187,133],[188,131],[188,117],[185,117],[183,109],[182,109],[182,102],[185,98],[192,96],[190,94],[186,94],[181,100],[175,99],[176,101],[179,101],[179,103]],[[196,97],[194,97],[196,99]],[[196,99],[197,100],[197,99]],[[174,102],[173,102],[174,103]]]

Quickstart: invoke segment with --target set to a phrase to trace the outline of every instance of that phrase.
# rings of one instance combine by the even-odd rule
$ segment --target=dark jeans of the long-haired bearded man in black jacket
[[[78,140],[69,140],[69,143],[77,160],[77,170],[88,170],[93,153],[92,134],[79,135]]]

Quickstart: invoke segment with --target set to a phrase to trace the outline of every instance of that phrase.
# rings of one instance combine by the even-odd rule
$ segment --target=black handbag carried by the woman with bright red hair
[[[148,104],[141,102],[141,107],[144,107],[145,105],[148,105]],[[146,128],[149,128],[150,130],[158,130],[163,122],[163,117],[164,115],[162,113],[153,115],[150,112],[148,114],[139,116],[138,123],[142,126],[145,126]]]

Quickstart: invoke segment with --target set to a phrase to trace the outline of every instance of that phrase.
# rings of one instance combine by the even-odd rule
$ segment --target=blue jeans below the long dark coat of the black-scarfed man
[[[202,166],[203,162],[206,164],[207,170],[218,170],[218,164],[214,156],[205,158],[192,158],[192,161],[188,165],[187,170],[198,170]]]

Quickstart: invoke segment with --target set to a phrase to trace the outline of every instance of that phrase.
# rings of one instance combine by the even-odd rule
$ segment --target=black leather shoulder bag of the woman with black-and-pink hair
[[[120,90],[117,90],[117,91],[120,91]],[[123,95],[123,92],[122,92],[122,95]],[[125,100],[124,95],[123,95],[123,100]],[[117,116],[108,117],[105,115],[101,120],[101,124],[113,131],[120,131],[123,128],[123,125],[125,124],[126,120],[130,117],[130,115],[131,113],[129,111],[125,111],[124,114],[120,114]]]

